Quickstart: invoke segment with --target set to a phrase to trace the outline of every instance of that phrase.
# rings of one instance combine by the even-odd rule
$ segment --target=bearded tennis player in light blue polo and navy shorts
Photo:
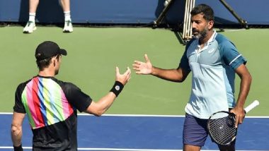
[[[251,86],[251,74],[246,59],[232,42],[213,30],[214,11],[200,4],[190,12],[193,39],[188,42],[178,68],[162,69],[152,66],[147,54],[145,62],[135,61],[137,74],[181,83],[192,72],[192,90],[185,106],[183,150],[200,150],[207,138],[207,119],[216,111],[236,115],[236,126],[243,122],[244,103]],[[239,96],[234,97],[235,73],[241,78]],[[219,150],[235,150],[235,142]]]

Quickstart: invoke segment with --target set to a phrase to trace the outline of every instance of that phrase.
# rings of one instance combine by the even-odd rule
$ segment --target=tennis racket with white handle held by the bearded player
[[[245,113],[251,111],[254,107],[258,106],[258,100],[252,102],[246,107]],[[218,111],[210,116],[207,121],[207,130],[214,142],[219,145],[229,145],[237,134],[235,127],[236,117],[233,113],[228,111]]]

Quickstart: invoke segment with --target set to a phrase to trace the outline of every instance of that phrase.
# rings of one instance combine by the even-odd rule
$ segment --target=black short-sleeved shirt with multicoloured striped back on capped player
[[[33,150],[77,150],[76,109],[91,97],[72,83],[40,75],[18,85],[13,110],[24,113],[33,130]]]

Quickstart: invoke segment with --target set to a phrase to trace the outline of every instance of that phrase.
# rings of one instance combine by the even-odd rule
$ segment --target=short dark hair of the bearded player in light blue
[[[192,11],[190,11],[191,16],[195,16],[199,13],[202,13],[204,15],[203,18],[205,18],[207,21],[214,20],[214,11],[207,4],[199,4],[198,6],[195,6]]]

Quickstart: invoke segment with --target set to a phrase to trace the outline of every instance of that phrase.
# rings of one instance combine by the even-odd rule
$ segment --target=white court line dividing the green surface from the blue
[[[12,112],[0,112],[1,114],[12,115]],[[79,116],[93,116],[92,114],[78,114]],[[130,116],[130,117],[185,117],[185,115],[152,115],[152,114],[103,114],[102,116]],[[269,116],[246,116],[246,118],[265,118]]]

